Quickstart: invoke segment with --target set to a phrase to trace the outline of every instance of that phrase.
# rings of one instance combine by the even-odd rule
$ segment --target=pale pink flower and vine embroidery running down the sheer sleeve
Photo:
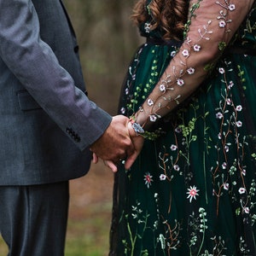
[[[198,9],[200,7],[200,3],[201,0],[198,0],[198,3],[196,3],[193,8],[190,10],[190,17],[191,20],[194,17],[194,12],[196,9]],[[220,10],[219,10],[219,15],[217,16],[217,20],[218,21],[218,25],[220,28],[223,27],[227,27],[227,24],[230,24],[232,22],[232,20],[229,18],[229,12],[233,12],[236,9],[235,4],[230,3],[230,1],[228,0],[224,0],[224,3],[217,1],[216,2],[217,5],[220,6]],[[188,24],[191,22],[191,20],[188,21]],[[192,75],[195,73],[195,68],[194,67],[189,67],[187,68],[187,61],[192,53],[192,51],[196,53],[201,52],[201,40],[210,40],[210,37],[212,35],[212,30],[210,29],[210,26],[212,25],[212,20],[208,20],[207,24],[202,25],[201,27],[198,28],[197,32],[198,32],[198,39],[194,39],[193,41],[189,38],[189,36],[185,39],[184,44],[183,45],[187,45],[184,46],[184,48],[181,50],[181,55],[183,56],[183,61],[180,61],[180,64],[183,65],[183,67],[185,67],[184,69],[180,69],[180,67],[172,67],[172,76],[174,76],[175,81],[177,82],[177,86],[179,87],[183,87],[184,84],[186,84],[185,79],[183,79],[183,76],[188,73],[189,75]],[[189,26],[188,26],[189,28]],[[230,28],[225,28],[226,32],[230,32]],[[189,31],[189,29],[188,29]],[[218,49],[219,50],[224,50],[226,46],[226,43],[224,41],[221,41],[218,43]],[[206,70],[210,70],[212,69],[213,65],[209,64],[208,66],[206,66]],[[170,67],[171,69],[171,67]],[[223,74],[224,73],[224,68],[223,67],[219,67],[219,73]],[[156,118],[160,118],[160,116],[158,116],[157,111],[159,111],[162,108],[167,108],[169,106],[170,102],[176,102],[177,105],[180,103],[179,102],[179,98],[182,97],[182,95],[169,95],[170,93],[172,93],[173,91],[175,92],[175,84],[173,84],[174,79],[171,79],[172,77],[170,74],[167,74],[166,79],[163,80],[159,86],[160,88],[160,92],[162,92],[162,94],[158,95],[156,99],[154,99],[154,102],[150,101],[150,104],[148,104],[148,107],[151,108],[150,114],[154,113],[154,116]],[[153,92],[154,93],[154,92]],[[157,107],[156,107],[157,106]],[[156,110],[155,110],[156,108]],[[143,107],[142,107],[143,110]],[[149,111],[148,111],[149,112]],[[149,121],[155,121],[154,119],[150,118],[148,116]],[[146,120],[146,122],[148,121],[148,119]]]

